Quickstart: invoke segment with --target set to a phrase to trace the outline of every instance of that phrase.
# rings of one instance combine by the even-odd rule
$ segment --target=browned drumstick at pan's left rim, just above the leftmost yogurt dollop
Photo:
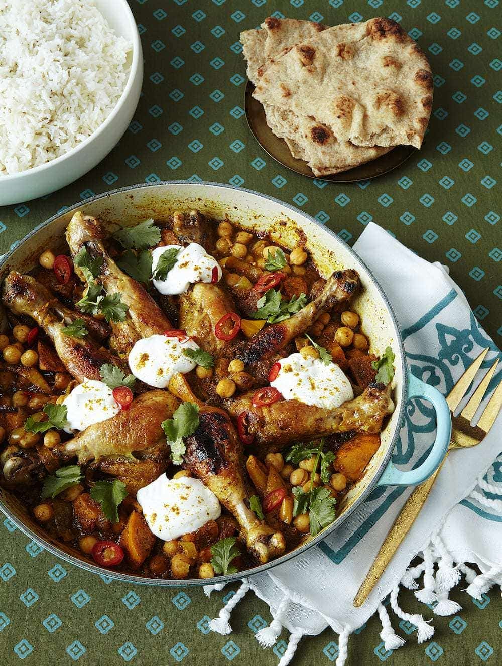
[[[11,270],[3,281],[2,301],[15,314],[32,317],[49,338],[68,372],[79,382],[101,380],[100,368],[105,363],[126,370],[124,362],[109,350],[93,342],[89,336],[74,338],[63,333],[65,318],[75,318],[74,312],[59,303],[45,286],[30,275]]]

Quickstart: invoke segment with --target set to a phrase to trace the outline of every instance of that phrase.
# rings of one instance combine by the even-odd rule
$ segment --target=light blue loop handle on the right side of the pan
[[[410,398],[425,398],[433,404],[437,422],[434,444],[427,458],[415,470],[401,472],[389,460],[389,464],[383,470],[383,474],[376,484],[377,486],[416,486],[421,484],[437,470],[445,457],[451,438],[451,415],[443,394],[412,374],[408,374],[407,400]]]

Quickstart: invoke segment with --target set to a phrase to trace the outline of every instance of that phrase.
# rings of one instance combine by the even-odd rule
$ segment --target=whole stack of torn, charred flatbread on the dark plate
[[[268,17],[240,41],[268,126],[316,176],[362,165],[397,145],[421,146],[431,69],[395,21],[327,27]]]

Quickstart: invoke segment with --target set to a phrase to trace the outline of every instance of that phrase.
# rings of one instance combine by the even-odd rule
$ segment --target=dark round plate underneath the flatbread
[[[290,153],[284,139],[276,137],[265,119],[265,112],[258,100],[252,97],[254,85],[248,81],[246,85],[246,98],[244,100],[244,109],[246,110],[246,119],[252,135],[258,141],[262,149],[273,157],[279,164],[286,166],[302,176],[309,178],[319,178],[320,180],[330,180],[331,182],[358,182],[358,180],[370,180],[384,173],[391,171],[396,166],[401,165],[417,149],[413,146],[396,146],[394,149],[385,153],[376,160],[367,162],[364,165],[355,166],[347,171],[335,173],[330,176],[316,176],[310,166],[303,160],[296,159]]]

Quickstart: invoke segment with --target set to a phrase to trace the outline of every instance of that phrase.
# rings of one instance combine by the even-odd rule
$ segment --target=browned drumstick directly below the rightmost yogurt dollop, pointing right
[[[279,451],[293,442],[317,439],[334,432],[380,432],[387,414],[393,412],[391,387],[370,384],[354,400],[332,410],[306,405],[298,400],[278,400],[268,406],[254,407],[252,392],[228,401],[230,415],[247,412],[246,430],[254,436],[254,446],[264,451]]]

